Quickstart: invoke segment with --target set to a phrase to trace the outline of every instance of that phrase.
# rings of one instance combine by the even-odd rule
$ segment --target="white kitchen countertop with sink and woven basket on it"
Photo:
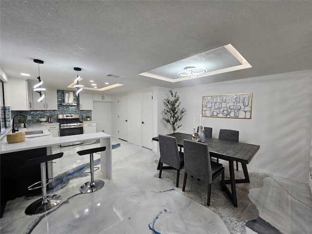
[[[44,124],[27,124],[27,128],[19,128],[19,132],[37,131],[42,130],[43,133],[50,133],[48,128]],[[26,138],[25,141],[20,143],[7,143],[6,137],[0,142],[0,154],[17,152],[22,150],[38,149],[42,147],[48,147],[53,145],[60,145],[64,143],[71,143],[77,141],[96,140],[100,138],[111,137],[106,133],[88,133],[79,134],[65,137],[52,137],[51,135]]]

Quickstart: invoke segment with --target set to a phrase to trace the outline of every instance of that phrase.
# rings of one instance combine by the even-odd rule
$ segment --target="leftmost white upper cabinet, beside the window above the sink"
[[[5,105],[11,106],[12,111],[29,111],[33,108],[32,93],[29,91],[27,80],[10,78],[4,83]]]

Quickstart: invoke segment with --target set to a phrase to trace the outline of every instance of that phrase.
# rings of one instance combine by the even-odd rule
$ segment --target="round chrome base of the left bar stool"
[[[25,210],[26,215],[38,215],[54,209],[62,200],[60,195],[47,196],[47,203],[42,204],[42,198],[31,203]]]

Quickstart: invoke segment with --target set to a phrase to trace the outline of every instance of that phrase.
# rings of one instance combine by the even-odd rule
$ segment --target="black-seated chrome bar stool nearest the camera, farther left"
[[[58,153],[54,155],[47,155],[29,159],[25,162],[25,166],[36,165],[40,163],[41,170],[41,181],[34,183],[33,185],[28,187],[28,190],[41,188],[42,197],[38,200],[31,203],[25,210],[26,215],[38,215],[44,212],[47,212],[53,208],[55,208],[62,200],[60,195],[52,195],[47,196],[47,185],[53,181],[53,178],[50,182],[47,183],[46,178],[46,167],[45,163],[47,161],[51,161],[53,159],[57,159],[63,156],[64,153]],[[34,187],[37,184],[41,183],[41,186]]]

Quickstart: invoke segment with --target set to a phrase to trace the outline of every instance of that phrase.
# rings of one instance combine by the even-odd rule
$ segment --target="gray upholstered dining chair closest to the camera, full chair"
[[[182,191],[185,192],[188,174],[208,182],[207,206],[210,206],[211,184],[221,176],[221,188],[225,189],[224,167],[222,164],[212,162],[209,156],[208,145],[205,143],[183,140],[184,145],[184,181]]]

